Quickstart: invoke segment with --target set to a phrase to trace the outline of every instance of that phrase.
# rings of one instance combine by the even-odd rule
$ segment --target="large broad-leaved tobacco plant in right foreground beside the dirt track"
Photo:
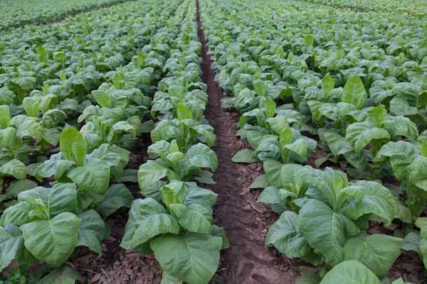
[[[386,187],[369,181],[349,183],[344,173],[331,168],[268,165],[272,168],[266,170],[266,178],[279,188],[267,187],[259,201],[281,204],[283,213],[269,229],[265,245],[315,265],[325,261],[333,267],[357,260],[379,277],[386,275],[402,240],[361,231],[369,228],[368,220],[411,222],[411,212]]]

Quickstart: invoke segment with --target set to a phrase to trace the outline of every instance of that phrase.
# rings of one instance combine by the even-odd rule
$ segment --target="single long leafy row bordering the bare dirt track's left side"
[[[203,116],[208,96],[200,79],[196,1],[187,2],[179,35],[164,45],[169,58],[152,103],[159,121],[151,131],[151,160],[137,173],[145,199],[132,203],[121,246],[154,251],[164,283],[200,284],[213,277],[228,241],[224,229],[211,224],[216,194],[196,184],[214,182],[206,169],[214,172],[218,160],[210,148],[214,129]]]

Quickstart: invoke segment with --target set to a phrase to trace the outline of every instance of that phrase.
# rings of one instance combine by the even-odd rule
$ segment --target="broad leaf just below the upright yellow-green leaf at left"
[[[110,183],[110,167],[100,159],[91,159],[81,167],[72,168],[67,176],[83,190],[103,195]]]

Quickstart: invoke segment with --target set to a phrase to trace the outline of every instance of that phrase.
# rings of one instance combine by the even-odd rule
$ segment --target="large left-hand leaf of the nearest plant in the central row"
[[[167,233],[179,233],[175,217],[167,214],[166,209],[152,198],[134,200],[120,246],[135,249],[153,237]]]

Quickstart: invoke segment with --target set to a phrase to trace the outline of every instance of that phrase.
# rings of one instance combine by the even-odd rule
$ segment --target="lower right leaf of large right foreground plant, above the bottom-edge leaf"
[[[402,239],[384,234],[360,233],[345,242],[344,260],[359,261],[375,273],[386,275],[399,256]]]

